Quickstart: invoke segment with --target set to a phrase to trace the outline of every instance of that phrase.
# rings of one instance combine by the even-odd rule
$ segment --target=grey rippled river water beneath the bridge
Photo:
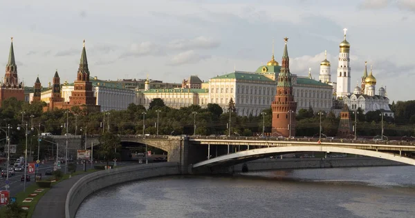
[[[89,196],[91,217],[415,217],[415,166],[145,179]]]

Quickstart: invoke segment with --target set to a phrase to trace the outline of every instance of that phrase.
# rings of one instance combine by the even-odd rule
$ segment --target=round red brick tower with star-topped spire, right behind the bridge
[[[295,136],[295,111],[297,102],[294,101],[293,85],[291,83],[290,58],[288,57],[287,41],[284,39],[281,70],[278,75],[277,94],[271,104],[273,110],[273,135],[283,137]],[[290,126],[291,123],[291,126]]]

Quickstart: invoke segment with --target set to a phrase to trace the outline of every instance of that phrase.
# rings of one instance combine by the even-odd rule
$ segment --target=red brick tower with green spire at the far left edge
[[[15,97],[18,101],[24,101],[24,86],[17,78],[17,65],[15,50],[13,49],[13,37],[11,38],[9,58],[6,65],[6,74],[0,87],[0,103],[4,99]]]

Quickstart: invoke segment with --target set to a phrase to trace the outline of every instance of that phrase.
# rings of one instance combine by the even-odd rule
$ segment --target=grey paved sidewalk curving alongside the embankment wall
[[[82,173],[59,182],[50,188],[46,194],[37,202],[32,218],[65,217],[66,195],[72,186],[82,177],[89,173]]]

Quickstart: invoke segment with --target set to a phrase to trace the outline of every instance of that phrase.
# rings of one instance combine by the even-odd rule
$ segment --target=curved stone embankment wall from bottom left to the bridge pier
[[[69,190],[65,203],[66,218],[75,217],[76,211],[82,204],[82,201],[88,195],[102,188],[137,179],[178,174],[180,174],[180,168],[178,163],[174,162],[140,164],[93,172],[82,177]]]

